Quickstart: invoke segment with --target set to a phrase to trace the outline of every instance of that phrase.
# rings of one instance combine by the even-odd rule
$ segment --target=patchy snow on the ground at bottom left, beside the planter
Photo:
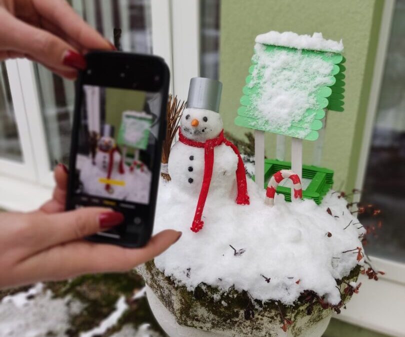
[[[43,290],[38,283],[26,292],[4,297],[0,302],[0,337],[67,337],[69,319],[78,315],[84,305],[70,297],[53,298],[50,290]],[[143,289],[137,293],[136,299],[144,296]],[[115,304],[115,311],[106,317],[94,329],[80,334],[80,337],[99,337],[115,326],[128,305],[121,296]],[[130,325],[112,337],[160,337],[151,330],[148,324],[134,329]]]

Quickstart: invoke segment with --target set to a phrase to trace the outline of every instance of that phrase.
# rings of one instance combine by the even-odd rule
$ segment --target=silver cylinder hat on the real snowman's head
[[[190,80],[186,107],[219,112],[221,92],[221,82],[205,77],[193,77]]]

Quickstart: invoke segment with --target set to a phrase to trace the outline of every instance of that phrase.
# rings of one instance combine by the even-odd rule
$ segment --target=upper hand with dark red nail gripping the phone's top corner
[[[0,22],[0,60],[27,57],[70,79],[87,50],[114,49],[65,0],[0,0]]]

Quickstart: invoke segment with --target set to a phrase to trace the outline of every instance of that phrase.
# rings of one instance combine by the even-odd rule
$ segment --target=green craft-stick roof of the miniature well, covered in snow
[[[235,124],[316,140],[325,109],[343,111],[341,41],[270,31],[255,42]]]

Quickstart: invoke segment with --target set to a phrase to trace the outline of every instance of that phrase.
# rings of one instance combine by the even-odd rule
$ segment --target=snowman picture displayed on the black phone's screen
[[[148,204],[158,120],[150,111],[153,97],[140,94],[135,101],[146,111],[105,110],[105,90],[85,86],[85,106],[76,156],[76,192],[101,198]],[[108,121],[108,123],[106,122]],[[115,132],[115,130],[118,130]]]

